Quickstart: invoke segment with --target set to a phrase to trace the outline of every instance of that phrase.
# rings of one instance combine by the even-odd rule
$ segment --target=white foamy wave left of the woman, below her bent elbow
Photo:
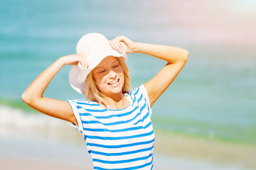
[[[0,106],[0,135],[9,137],[63,138],[75,135],[71,123],[43,113]]]

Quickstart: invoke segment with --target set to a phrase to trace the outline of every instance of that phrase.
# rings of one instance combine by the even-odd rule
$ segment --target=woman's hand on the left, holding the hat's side
[[[78,54],[66,55],[60,58],[64,64],[68,65],[78,65],[84,69],[89,67],[85,53],[80,52]]]

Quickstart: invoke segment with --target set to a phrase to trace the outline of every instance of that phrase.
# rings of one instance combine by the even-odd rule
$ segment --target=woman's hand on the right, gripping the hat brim
[[[109,40],[110,46],[114,50],[119,50],[122,47],[122,45],[119,42],[124,42],[124,44],[127,45],[127,54],[134,52],[136,43],[130,40],[129,38],[125,37],[124,35],[119,35],[113,40]]]

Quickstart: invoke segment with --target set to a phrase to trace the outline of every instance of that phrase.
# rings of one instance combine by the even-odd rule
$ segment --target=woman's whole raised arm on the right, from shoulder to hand
[[[178,73],[188,60],[188,50],[168,45],[154,45],[142,42],[133,42],[124,36],[118,36],[110,41],[110,45],[116,50],[120,47],[119,42],[127,45],[127,52],[138,52],[165,60],[167,64],[155,77],[147,81],[144,86],[149,94],[150,105],[164,93],[177,77]]]

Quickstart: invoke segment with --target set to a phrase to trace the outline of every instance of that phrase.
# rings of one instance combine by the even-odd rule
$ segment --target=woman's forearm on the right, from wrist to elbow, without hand
[[[171,64],[186,62],[188,60],[188,50],[169,45],[154,45],[142,42],[135,42],[134,51],[157,57]]]

